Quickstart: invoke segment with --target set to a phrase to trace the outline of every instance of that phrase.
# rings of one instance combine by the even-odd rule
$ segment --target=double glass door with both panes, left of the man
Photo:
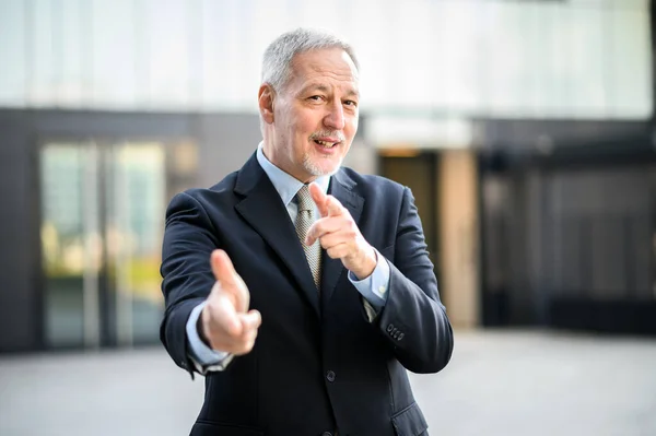
[[[40,152],[45,338],[51,347],[155,342],[166,197],[160,142]]]

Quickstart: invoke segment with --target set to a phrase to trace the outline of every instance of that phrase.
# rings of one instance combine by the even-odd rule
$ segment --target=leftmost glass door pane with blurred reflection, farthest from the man
[[[46,341],[98,344],[98,234],[95,144],[49,144],[42,151],[42,248]]]

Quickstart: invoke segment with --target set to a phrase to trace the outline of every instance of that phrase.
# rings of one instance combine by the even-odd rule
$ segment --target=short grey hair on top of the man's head
[[[262,83],[269,83],[278,92],[283,90],[290,75],[294,56],[324,48],[341,48],[351,57],[355,68],[360,70],[353,48],[343,39],[323,31],[296,28],[280,35],[265,50]]]

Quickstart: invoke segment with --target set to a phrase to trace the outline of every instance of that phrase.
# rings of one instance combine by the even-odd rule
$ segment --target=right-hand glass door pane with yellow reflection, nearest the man
[[[157,338],[162,316],[160,256],[165,153],[159,143],[124,143],[109,158],[108,270],[116,288],[120,344]]]

